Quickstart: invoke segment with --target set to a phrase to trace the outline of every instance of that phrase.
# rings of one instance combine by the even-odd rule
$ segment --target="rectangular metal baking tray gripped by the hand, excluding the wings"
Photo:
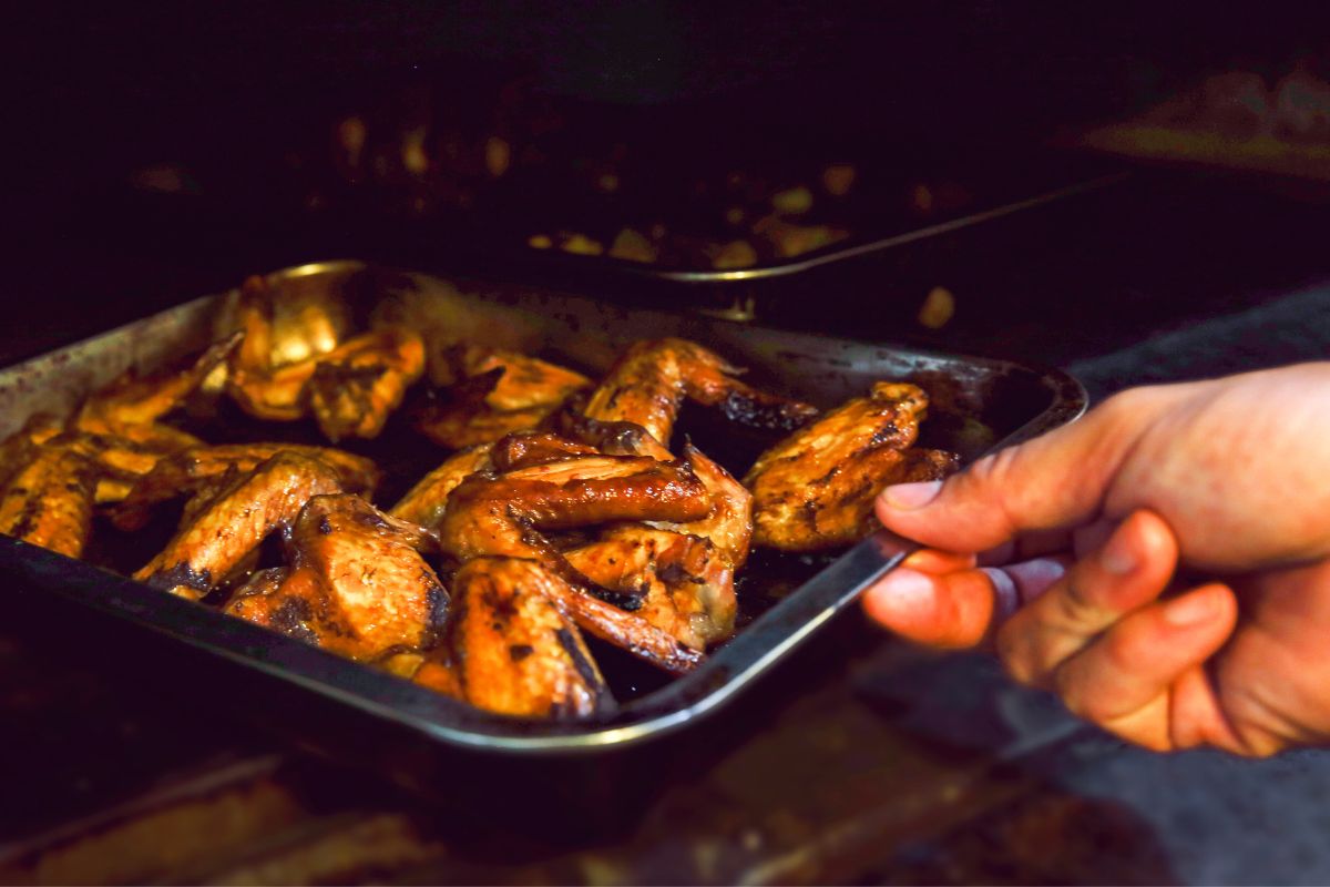
[[[629,311],[548,290],[446,281],[359,262],[306,265],[278,271],[270,281],[287,295],[322,289],[359,303],[388,299],[419,323],[450,335],[523,348],[592,371],[608,368],[634,339],[680,335],[750,367],[749,378],[758,383],[822,406],[859,395],[876,379],[911,379],[932,398],[928,443],[951,447],[966,460],[1069,422],[1085,408],[1084,390],[1067,374],[1005,360],[767,330],[696,314]],[[90,390],[126,368],[152,371],[202,348],[235,297],[233,291],[200,298],[0,371],[0,434],[17,431],[36,411],[73,410]],[[281,434],[279,427],[266,428]],[[443,456],[436,453],[438,460]],[[746,465],[730,467],[742,471]],[[108,648],[108,668],[128,665],[137,669],[134,680],[152,676],[165,688],[161,692],[182,692],[193,703],[206,688],[207,698],[218,703],[237,705],[307,745],[382,767],[415,786],[451,774],[450,791],[456,790],[456,755],[501,762],[509,777],[535,773],[548,779],[555,773],[552,762],[581,761],[585,773],[609,751],[650,746],[698,722],[739,697],[854,600],[858,589],[838,577],[854,573],[855,557],[863,556],[861,547],[831,563],[777,559],[759,574],[783,577],[783,588],[741,586],[746,601],[741,622],[746,624],[694,673],[625,698],[596,719],[533,722],[472,709],[93,564],[17,540],[0,541],[0,570],[8,577],[4,592],[27,601],[11,612],[45,620],[57,636],[64,636],[61,625],[92,629],[85,633]],[[817,581],[798,581],[810,574]],[[529,767],[508,766],[519,761]],[[569,790],[589,791],[585,786]]]

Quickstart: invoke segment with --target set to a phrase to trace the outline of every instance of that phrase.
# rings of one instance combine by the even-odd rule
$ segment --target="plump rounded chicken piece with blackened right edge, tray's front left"
[[[428,648],[448,593],[418,551],[426,545],[420,528],[359,496],[314,496],[291,529],[293,565],[251,580],[226,612],[352,660]]]

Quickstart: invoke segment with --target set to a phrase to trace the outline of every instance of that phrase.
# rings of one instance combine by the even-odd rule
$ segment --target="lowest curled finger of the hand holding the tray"
[[[1076,714],[1149,749],[1240,747],[1202,666],[1236,621],[1226,585],[1146,606],[1068,658],[1056,672],[1057,693]]]

